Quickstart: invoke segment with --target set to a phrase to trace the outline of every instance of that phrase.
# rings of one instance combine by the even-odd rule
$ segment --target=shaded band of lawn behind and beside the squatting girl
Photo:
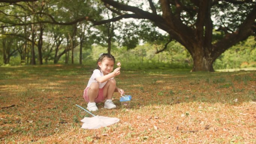
[[[65,103],[83,103],[83,89],[91,76],[91,67],[82,65],[46,65],[0,67],[1,105],[26,99],[54,99]],[[116,77],[119,88],[132,95],[134,108],[149,104],[180,102],[222,102],[236,104],[255,101],[256,71],[190,73],[188,70],[122,71]],[[64,99],[61,99],[64,98]],[[120,107],[118,94],[114,102]],[[237,99],[237,100],[236,100]],[[12,103],[10,102],[12,101]],[[41,102],[40,105],[43,103]],[[47,104],[47,102],[46,102]]]

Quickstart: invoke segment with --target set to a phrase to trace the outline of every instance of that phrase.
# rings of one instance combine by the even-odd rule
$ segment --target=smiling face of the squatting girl
[[[104,58],[102,62],[98,62],[98,65],[104,75],[109,74],[114,68],[114,61],[110,58]]]

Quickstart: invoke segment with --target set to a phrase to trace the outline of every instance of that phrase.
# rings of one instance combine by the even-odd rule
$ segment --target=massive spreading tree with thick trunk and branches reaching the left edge
[[[231,46],[246,40],[250,35],[255,35],[256,33],[255,0],[159,0],[158,2],[134,0],[136,3],[132,3],[132,0],[123,0],[122,2],[113,0],[101,1],[103,1],[104,5],[99,5],[98,1],[86,0],[84,2],[77,0],[76,6],[77,4],[79,6],[82,3],[86,4],[86,6],[83,6],[86,9],[86,13],[74,17],[70,16],[73,10],[66,12],[73,4],[69,4],[67,1],[51,0],[48,1],[52,5],[51,8],[53,10],[51,12],[37,11],[28,13],[25,17],[33,16],[31,16],[32,19],[30,18],[26,22],[19,22],[21,15],[10,15],[10,11],[5,9],[8,4],[3,4],[1,8],[3,10],[0,11],[2,13],[0,27],[44,23],[73,25],[80,21],[91,21],[94,25],[101,25],[119,21],[123,18],[145,19],[151,21],[154,27],[166,31],[170,36],[170,40],[176,40],[185,46],[193,58],[192,71],[214,71],[213,62],[218,56]],[[44,3],[44,0],[39,2]],[[61,8],[56,9],[55,3],[60,4]],[[10,9],[15,8],[11,5],[21,7],[21,9],[24,8],[21,4],[11,3]],[[108,10],[115,13],[115,17],[102,20],[102,16],[99,14],[102,6],[106,6]],[[90,9],[90,7],[93,8]],[[64,11],[62,13],[64,16],[58,11]],[[40,19],[32,21],[34,15],[40,15]],[[9,16],[18,20],[7,18]],[[3,23],[4,25],[2,25]],[[214,35],[216,34],[215,29],[217,29],[216,31],[221,31],[222,35],[216,37]],[[165,48],[170,43],[170,40],[166,41]],[[126,43],[129,44],[130,42]],[[157,52],[161,51],[162,49],[157,50]]]

